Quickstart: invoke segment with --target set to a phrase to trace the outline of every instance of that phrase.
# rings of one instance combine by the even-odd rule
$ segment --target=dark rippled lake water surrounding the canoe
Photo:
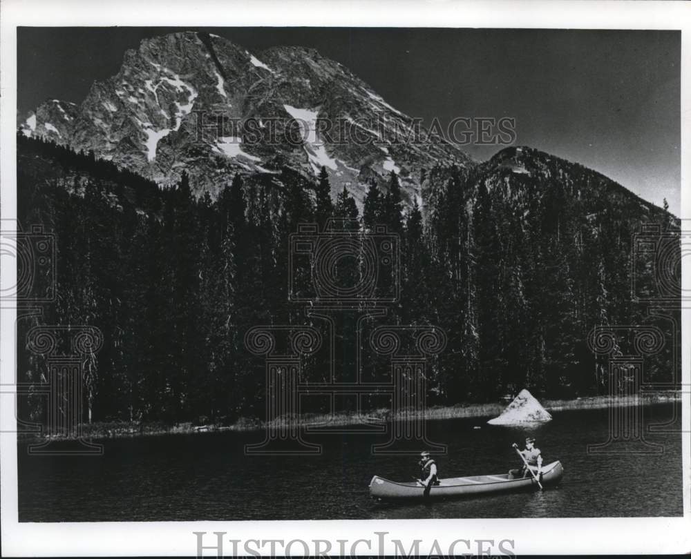
[[[673,417],[679,404],[644,409],[646,423]],[[545,463],[565,475],[543,492],[509,493],[431,504],[378,504],[368,484],[375,473],[408,481],[413,456],[372,455],[384,435],[309,435],[323,444],[314,456],[245,455],[261,432],[162,435],[101,441],[97,457],[33,456],[19,446],[19,520],[285,520],[370,518],[558,518],[681,516],[681,435],[653,433],[662,454],[588,454],[607,440],[607,409],[553,413],[536,429],[486,425],[487,418],[428,422],[430,439],[448,445],[437,464],[442,478],[504,473],[516,467],[512,442],[531,434]],[[678,428],[679,422],[676,423]],[[480,429],[476,429],[476,427]],[[688,436],[688,434],[686,435]]]

